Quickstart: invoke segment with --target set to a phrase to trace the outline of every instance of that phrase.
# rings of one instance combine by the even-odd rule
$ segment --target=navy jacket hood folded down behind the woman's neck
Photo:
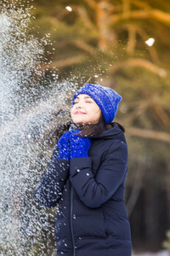
[[[126,139],[123,131],[119,126],[115,123],[114,127],[110,130],[101,131],[99,134],[90,136],[92,139],[119,139],[122,140],[123,143],[126,143]]]

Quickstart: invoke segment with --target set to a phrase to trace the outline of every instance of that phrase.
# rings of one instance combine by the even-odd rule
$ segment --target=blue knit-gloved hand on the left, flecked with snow
[[[65,160],[70,160],[70,136],[71,131],[65,132],[60,138],[58,142],[59,148],[59,158],[63,158]]]

